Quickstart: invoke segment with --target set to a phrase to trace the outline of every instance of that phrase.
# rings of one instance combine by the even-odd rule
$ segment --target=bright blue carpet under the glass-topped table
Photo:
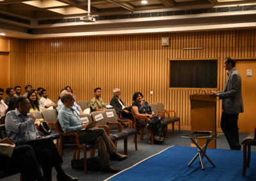
[[[195,147],[174,146],[109,180],[256,180],[256,152],[252,152],[246,177],[242,175],[243,151],[209,148],[207,155],[216,167],[204,159],[205,170],[202,170],[198,158],[190,168],[187,166],[196,152]]]

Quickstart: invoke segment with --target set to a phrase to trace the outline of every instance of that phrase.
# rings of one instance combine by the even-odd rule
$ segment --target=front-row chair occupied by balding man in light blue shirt
[[[64,149],[73,149],[73,159],[79,159],[80,157],[80,150],[84,151],[84,173],[87,173],[87,150],[91,150],[91,156],[94,156],[95,149],[93,145],[88,143],[80,143],[79,136],[77,133],[64,133],[61,129],[60,122],[55,122],[56,131],[60,134],[60,147],[59,152],[60,156],[63,156]],[[67,140],[70,136],[74,136],[76,138],[76,143],[68,143]]]

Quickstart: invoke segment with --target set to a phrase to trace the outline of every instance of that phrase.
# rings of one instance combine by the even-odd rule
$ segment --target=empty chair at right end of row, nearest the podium
[[[163,117],[167,117],[169,122],[173,122],[172,124],[172,134],[174,134],[174,122],[178,122],[179,124],[179,133],[180,133],[180,118],[176,117],[176,112],[174,110],[165,110],[164,109],[164,104],[163,103],[157,103],[157,110],[159,113],[163,113]],[[173,113],[173,117],[171,116],[171,113]]]

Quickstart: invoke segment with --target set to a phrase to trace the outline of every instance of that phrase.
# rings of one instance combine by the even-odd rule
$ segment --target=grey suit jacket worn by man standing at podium
[[[228,71],[225,89],[217,94],[220,99],[223,99],[222,109],[224,113],[235,114],[244,112],[241,86],[241,76],[237,69],[233,68]]]

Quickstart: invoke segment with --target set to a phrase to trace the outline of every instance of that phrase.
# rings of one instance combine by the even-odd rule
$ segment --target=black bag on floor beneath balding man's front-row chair
[[[71,167],[74,169],[84,170],[84,159],[72,159]],[[87,169],[90,171],[100,171],[100,157],[90,157],[87,159]]]

